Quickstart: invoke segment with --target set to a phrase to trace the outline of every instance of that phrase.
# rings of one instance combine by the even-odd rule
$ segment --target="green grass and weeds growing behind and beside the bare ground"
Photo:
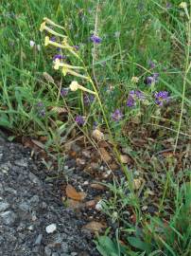
[[[130,168],[122,166],[127,179],[110,185],[113,196],[104,210],[118,228],[114,242],[109,238],[113,229],[98,238],[102,255],[110,255],[104,254],[107,249],[111,255],[150,256],[185,256],[191,250],[191,224],[185,213],[191,204],[191,3],[187,1],[187,9],[179,7],[180,1],[170,3],[166,9],[167,1],[162,0],[1,2],[0,126],[14,137],[46,137],[47,151],[51,148],[61,163],[64,144],[76,128],[97,146],[91,137],[96,122],[106,137],[110,134],[116,158],[123,151],[133,160]],[[52,68],[58,50],[43,46],[43,17],[64,27],[70,45],[79,46],[82,62],[68,51],[62,53],[69,64],[83,65],[91,82],[62,76]],[[93,33],[101,44],[91,42]],[[159,79],[149,86],[144,81],[153,73],[159,73]],[[133,82],[133,77],[139,81]],[[96,90],[91,105],[84,104],[80,90],[61,97],[61,87],[68,88],[73,80]],[[131,90],[141,90],[146,97],[134,107],[126,104]],[[168,91],[170,101],[157,105],[156,91]],[[67,113],[59,114],[58,107]],[[116,109],[123,113],[120,121],[112,119]],[[85,117],[82,127],[74,122],[78,115]],[[142,182],[138,190],[133,190],[134,179]],[[153,204],[157,212],[151,216],[143,207]],[[134,223],[128,212],[136,216]]]

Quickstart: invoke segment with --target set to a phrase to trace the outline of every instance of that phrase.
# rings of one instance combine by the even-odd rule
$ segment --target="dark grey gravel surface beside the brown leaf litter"
[[[0,137],[0,256],[99,255],[81,213],[64,207],[39,166]]]

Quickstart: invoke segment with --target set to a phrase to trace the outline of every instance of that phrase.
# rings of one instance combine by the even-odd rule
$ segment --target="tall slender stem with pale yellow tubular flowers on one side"
[[[94,95],[95,101],[97,101],[97,103],[100,107],[100,110],[102,112],[103,119],[104,119],[105,125],[108,129],[111,142],[113,143],[113,152],[116,155],[117,160],[122,165],[124,174],[126,175],[127,179],[129,180],[130,191],[133,194],[133,188],[132,188],[131,182],[130,182],[130,178],[131,178],[130,174],[128,173],[128,170],[125,167],[123,167],[123,163],[121,162],[121,158],[118,153],[116,144],[113,140],[113,134],[112,134],[112,131],[111,131],[111,128],[109,125],[109,121],[106,117],[104,106],[100,100],[98,91],[96,89],[96,84],[93,82],[91,76],[89,75],[88,70],[87,70],[83,60],[78,55],[76,47],[70,45],[69,38],[66,35],[62,35],[61,33],[55,31],[53,28],[50,28],[50,26],[54,27],[54,28],[60,28],[62,31],[65,31],[64,27],[57,25],[56,23],[54,23],[53,21],[51,21],[48,18],[43,18],[43,23],[40,27],[40,31],[41,32],[45,31],[46,33],[50,34],[51,37],[53,36],[53,37],[58,37],[58,39],[61,39],[61,43],[60,43],[59,40],[58,41],[51,40],[51,37],[46,35],[44,38],[44,46],[53,46],[56,48],[60,48],[61,50],[64,50],[64,53],[67,52],[68,54],[70,54],[71,59],[74,58],[74,59],[72,59],[73,62],[79,63],[79,65],[67,64],[66,62],[64,62],[64,60],[61,57],[59,57],[59,58],[54,58],[53,68],[55,70],[61,70],[61,73],[63,76],[72,75],[73,77],[75,77],[75,79],[78,79],[78,80],[80,79],[80,80],[82,80],[82,82],[85,82],[86,84],[91,85],[92,88],[89,89],[89,88],[81,85],[80,82],[74,80],[70,83],[69,89],[73,92],[81,91],[82,93],[86,93],[86,97],[87,97],[87,93],[90,95]],[[92,35],[91,40],[95,44],[101,43],[101,38],[97,37],[96,35]],[[62,88],[62,90],[63,90],[63,88]],[[122,119],[122,117],[123,117],[123,114],[120,112],[120,110],[115,110],[115,112],[112,115],[112,118],[114,120]],[[79,126],[83,126],[87,122],[87,119],[84,119],[84,117],[78,115],[78,116],[76,116],[75,121]]]

